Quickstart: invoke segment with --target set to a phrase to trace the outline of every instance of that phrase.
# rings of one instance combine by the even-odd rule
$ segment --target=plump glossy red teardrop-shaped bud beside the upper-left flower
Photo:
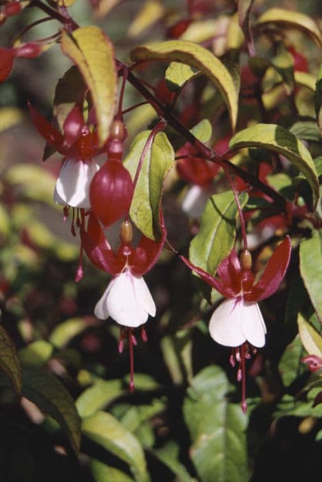
[[[132,195],[129,171],[113,159],[95,174],[89,189],[92,210],[105,226],[110,226],[129,211]]]

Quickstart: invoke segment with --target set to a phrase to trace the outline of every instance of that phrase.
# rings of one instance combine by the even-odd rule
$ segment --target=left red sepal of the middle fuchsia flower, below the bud
[[[114,253],[94,214],[89,214],[87,230],[81,226],[80,235],[84,251],[94,266],[112,275],[122,272],[127,258]]]

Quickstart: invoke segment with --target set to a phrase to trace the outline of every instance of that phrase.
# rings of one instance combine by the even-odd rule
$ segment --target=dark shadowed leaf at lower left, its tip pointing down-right
[[[23,367],[23,397],[50,415],[66,433],[76,454],[81,445],[81,419],[71,395],[52,373],[42,368]]]

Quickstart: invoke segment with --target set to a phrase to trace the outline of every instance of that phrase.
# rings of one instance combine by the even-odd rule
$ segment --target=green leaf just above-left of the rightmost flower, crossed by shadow
[[[239,194],[241,207],[246,205],[248,195]],[[206,202],[200,220],[200,230],[193,238],[189,249],[189,259],[193,264],[215,274],[219,263],[233,249],[236,237],[235,220],[238,209],[232,191],[215,194]]]

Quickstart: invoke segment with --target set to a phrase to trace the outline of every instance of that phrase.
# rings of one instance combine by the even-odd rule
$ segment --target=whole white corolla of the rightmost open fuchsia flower
[[[245,302],[242,296],[219,304],[211,316],[209,331],[215,342],[224,346],[248,342],[261,348],[265,344],[266,326],[259,306]]]

